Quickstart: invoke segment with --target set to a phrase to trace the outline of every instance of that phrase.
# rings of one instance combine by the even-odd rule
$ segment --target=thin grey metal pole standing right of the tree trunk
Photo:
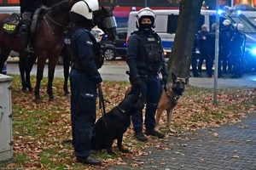
[[[218,0],[216,0],[216,30],[215,30],[215,62],[214,62],[214,94],[213,104],[218,105],[218,42],[219,42],[219,14],[218,14]]]

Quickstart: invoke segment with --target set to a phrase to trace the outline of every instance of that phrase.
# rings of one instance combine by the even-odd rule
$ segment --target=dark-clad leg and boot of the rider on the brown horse
[[[29,40],[29,31],[32,21],[32,15],[42,5],[42,0],[20,0],[21,26],[20,36],[27,45]]]

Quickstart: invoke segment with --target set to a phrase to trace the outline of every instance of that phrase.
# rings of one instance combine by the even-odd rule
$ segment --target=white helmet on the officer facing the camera
[[[137,12],[137,27],[140,26],[143,18],[149,18],[152,21],[152,27],[154,27],[155,13],[151,8],[142,8]]]

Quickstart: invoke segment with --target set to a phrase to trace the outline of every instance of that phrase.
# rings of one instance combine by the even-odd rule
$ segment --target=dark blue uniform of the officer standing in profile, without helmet
[[[96,84],[102,82],[97,70],[94,37],[79,28],[71,36],[73,67],[70,72],[73,146],[78,157],[90,156],[91,138],[96,121]]]

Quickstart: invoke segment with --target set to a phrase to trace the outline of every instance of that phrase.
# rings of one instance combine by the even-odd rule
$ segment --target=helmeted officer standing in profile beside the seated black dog
[[[96,87],[102,82],[95,61],[96,39],[90,34],[94,26],[92,12],[98,9],[97,0],[84,0],[74,3],[70,14],[73,22],[73,67],[70,72],[73,146],[77,161],[91,165],[101,164],[90,156],[96,121]]]

